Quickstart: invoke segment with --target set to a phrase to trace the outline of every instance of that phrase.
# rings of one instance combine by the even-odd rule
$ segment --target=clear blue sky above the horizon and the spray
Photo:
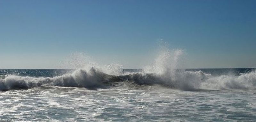
[[[256,67],[256,0],[0,0],[0,68],[59,68],[74,52],[141,68],[159,39],[185,68]]]

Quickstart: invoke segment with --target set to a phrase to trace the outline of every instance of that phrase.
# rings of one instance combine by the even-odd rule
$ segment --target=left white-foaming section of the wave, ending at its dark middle
[[[100,86],[101,83],[108,82],[111,75],[107,75],[91,68],[88,72],[84,69],[77,69],[73,73],[55,77],[29,77],[10,75],[0,79],[0,90],[29,89],[43,84],[70,87],[93,88]]]

